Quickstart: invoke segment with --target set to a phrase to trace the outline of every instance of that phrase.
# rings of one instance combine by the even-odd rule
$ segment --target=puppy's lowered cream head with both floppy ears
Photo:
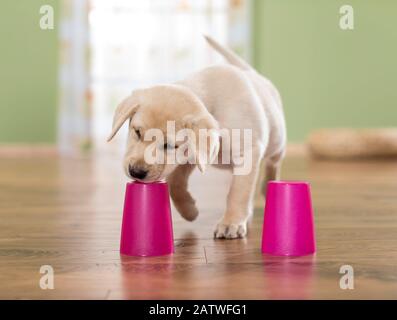
[[[193,163],[202,172],[206,164],[202,159],[211,161],[218,153],[218,124],[198,97],[187,88],[162,85],[134,91],[117,107],[108,141],[127,120],[129,131],[124,171],[132,179],[144,182],[164,179],[178,166],[178,162],[175,159],[170,161],[170,157],[175,157],[176,150],[186,143],[194,144],[190,148]],[[167,130],[170,122],[175,124],[175,131]],[[183,129],[189,129],[195,138],[187,139],[186,143],[178,141],[177,134]],[[204,148],[198,144],[200,129],[215,133]],[[160,133],[160,137],[154,137],[155,132]],[[148,162],[147,155],[153,153],[161,155],[159,158],[162,161]]]

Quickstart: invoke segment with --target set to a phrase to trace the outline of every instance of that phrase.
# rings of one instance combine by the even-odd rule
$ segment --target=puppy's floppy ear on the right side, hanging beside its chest
[[[189,116],[185,123],[185,127],[194,132],[195,137],[191,141],[194,141],[195,145],[192,146],[192,150],[199,170],[204,172],[206,165],[211,164],[219,152],[218,123],[208,112],[199,116]]]

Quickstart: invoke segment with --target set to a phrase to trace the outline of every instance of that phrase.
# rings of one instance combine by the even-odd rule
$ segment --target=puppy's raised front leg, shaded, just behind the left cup
[[[193,169],[194,165],[191,164],[180,165],[167,178],[174,206],[188,221],[193,221],[198,215],[196,201],[187,190],[189,176]]]

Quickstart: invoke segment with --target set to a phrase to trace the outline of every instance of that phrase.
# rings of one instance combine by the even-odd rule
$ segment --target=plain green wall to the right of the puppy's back
[[[354,8],[355,29],[339,28]],[[397,1],[255,0],[254,63],[280,89],[290,141],[397,125]]]

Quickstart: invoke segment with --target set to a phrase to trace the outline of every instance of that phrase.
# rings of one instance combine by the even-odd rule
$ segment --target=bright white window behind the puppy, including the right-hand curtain
[[[249,11],[248,0],[89,1],[87,127],[96,150],[124,148],[126,128],[118,143],[106,144],[106,137],[117,104],[134,88],[169,83],[222,61],[203,34],[249,60]]]

